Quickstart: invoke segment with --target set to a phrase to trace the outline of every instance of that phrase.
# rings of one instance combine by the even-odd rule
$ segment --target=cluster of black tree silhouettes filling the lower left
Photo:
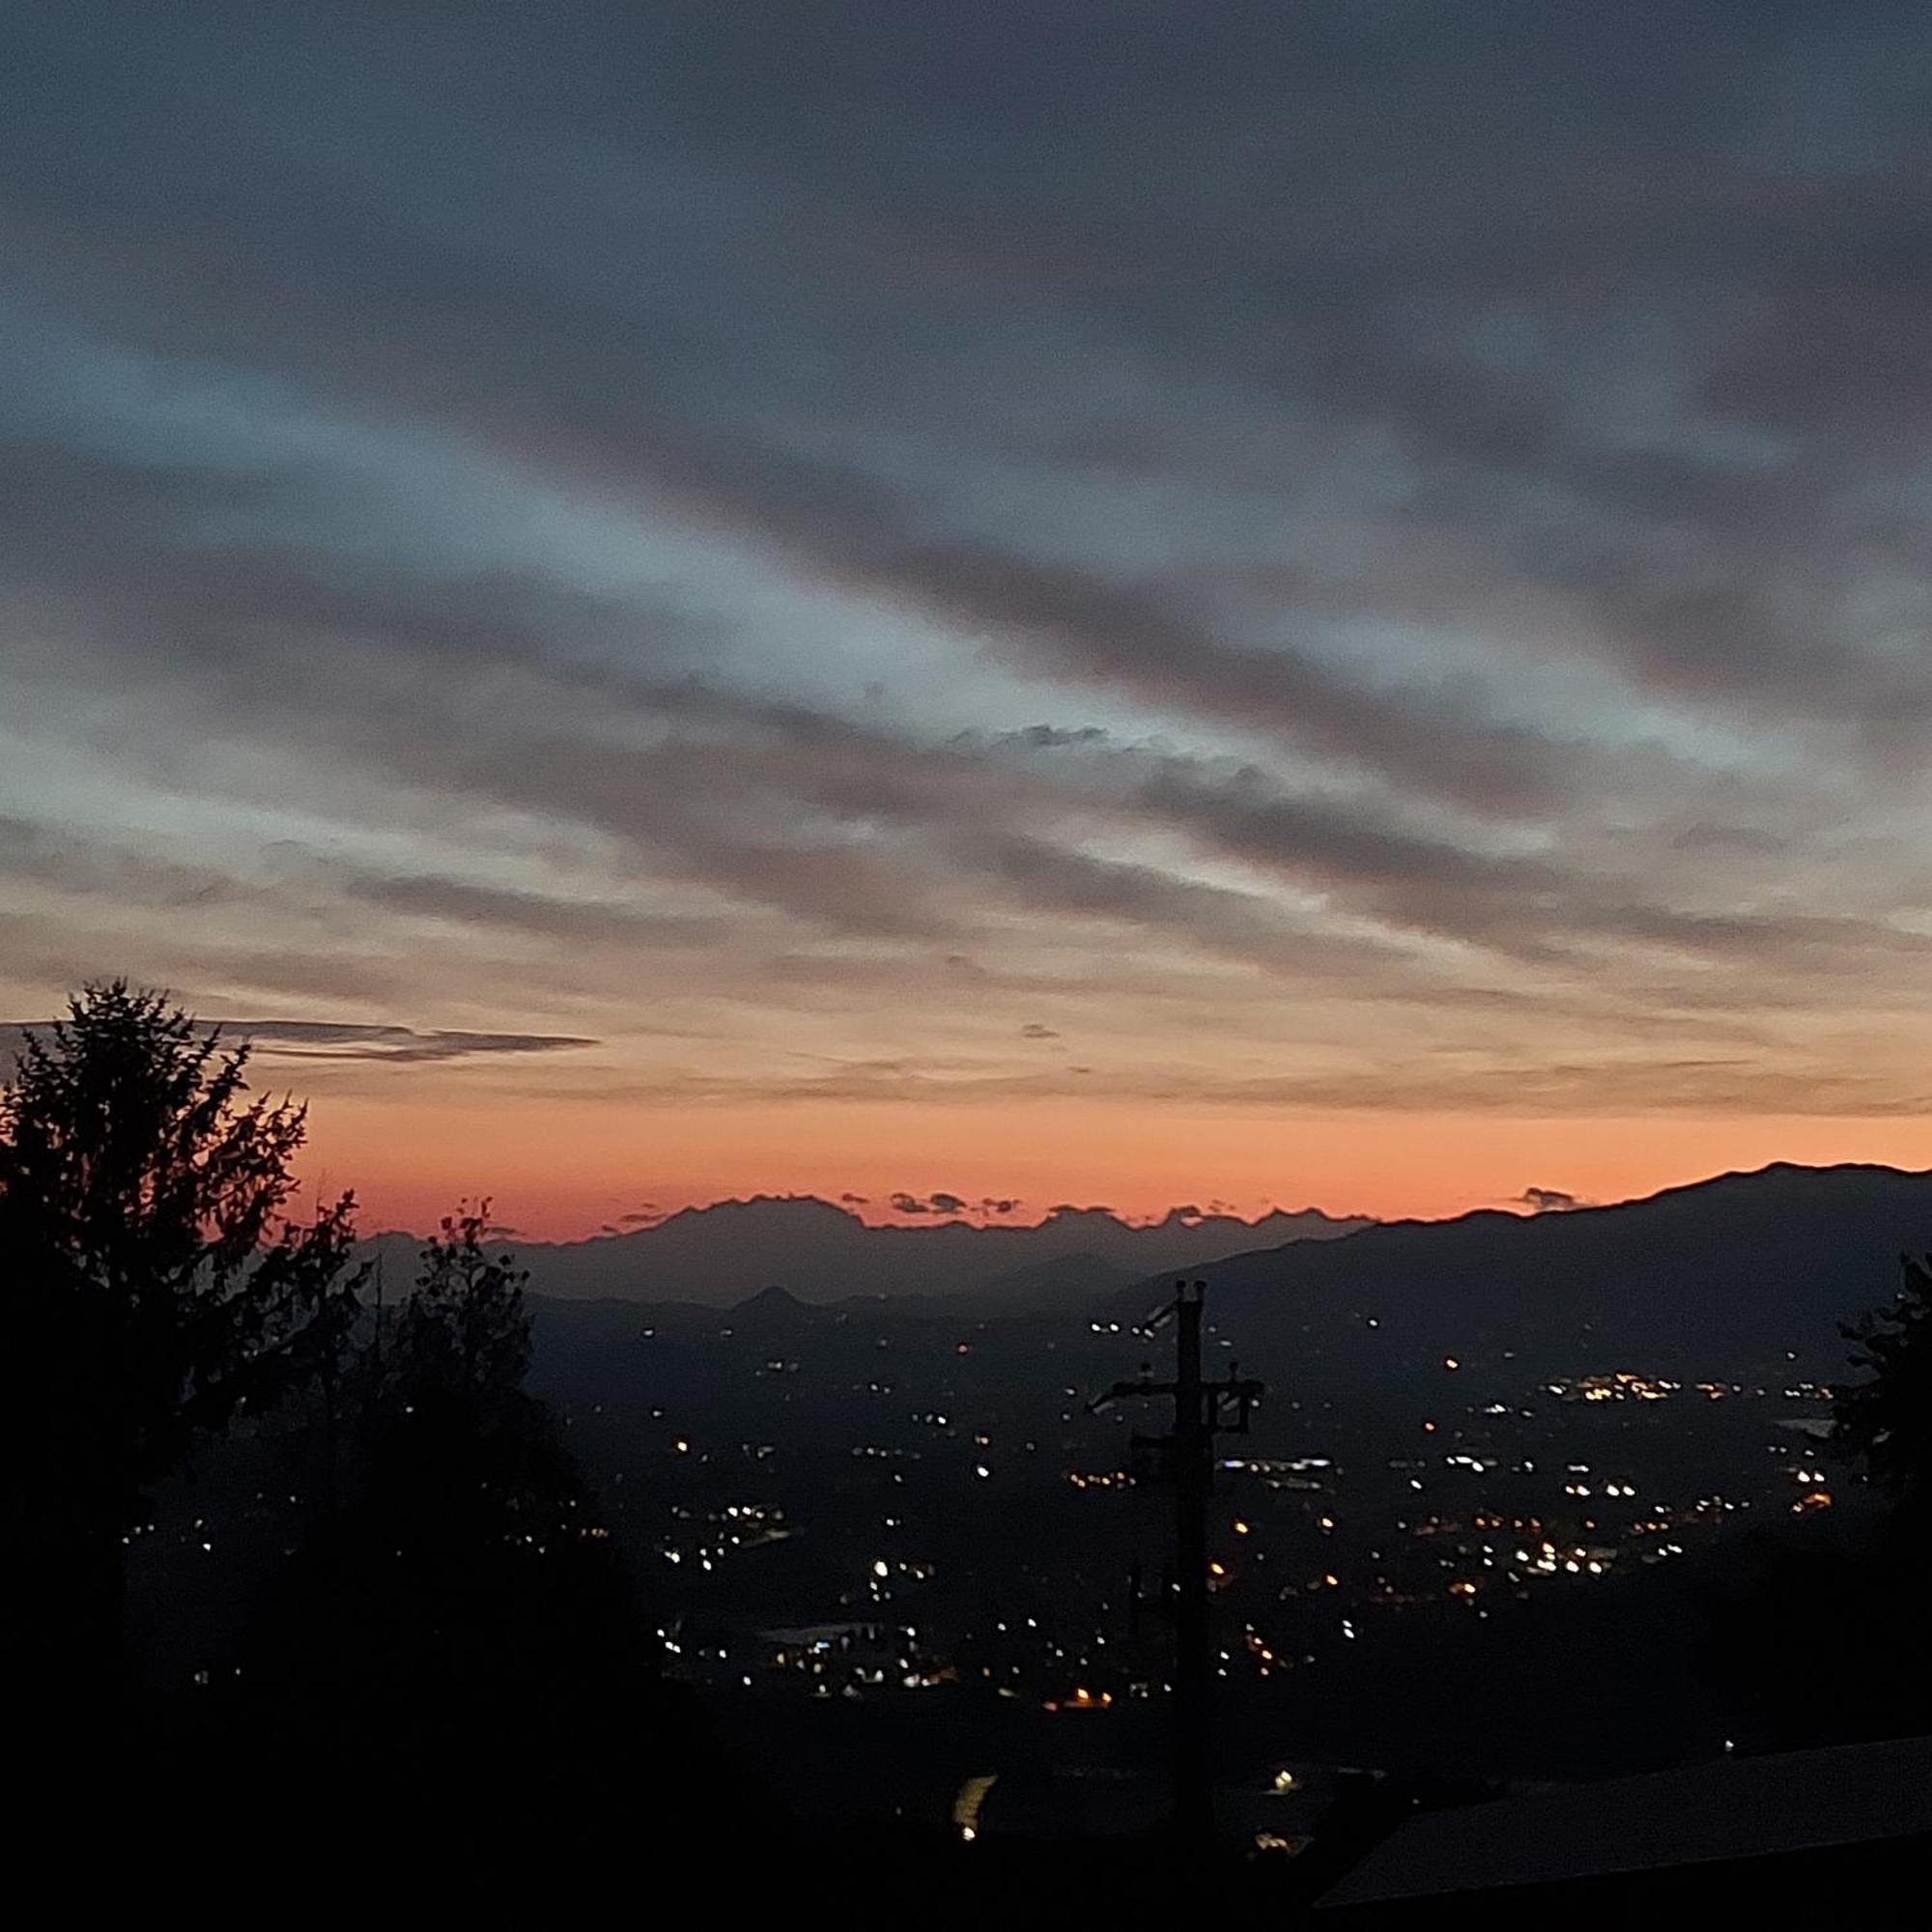
[[[29,1841],[286,1880],[539,1886],[696,1861],[752,1795],[657,1671],[653,1623],[549,1412],[487,1209],[408,1293],[352,1267],[354,1202],[284,1215],[305,1113],[247,1047],[124,983],[27,1041],[0,1095],[6,1592]],[[274,1470],[274,1555],[189,1690],[126,1640],[128,1555],[184,1459]],[[263,1492],[265,1495],[269,1492]],[[185,1611],[184,1611],[185,1613]],[[151,1861],[151,1862],[143,1862]]]

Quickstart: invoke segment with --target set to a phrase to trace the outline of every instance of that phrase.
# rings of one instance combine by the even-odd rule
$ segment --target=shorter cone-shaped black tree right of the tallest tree
[[[355,1795],[367,1830],[336,1853],[344,1878],[454,1874],[500,1903],[639,1833],[696,1855],[744,1804],[522,1385],[524,1279],[483,1204],[365,1325],[342,1507],[274,1580],[214,1741],[270,1768],[276,1816]],[[251,1837],[274,1845],[272,1816]]]

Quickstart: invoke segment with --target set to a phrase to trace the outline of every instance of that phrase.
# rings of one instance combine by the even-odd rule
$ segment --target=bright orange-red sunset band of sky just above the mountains
[[[1016,1223],[1059,1202],[1146,1217],[1213,1200],[1250,1219],[1269,1206],[1437,1219],[1509,1206],[1526,1186],[1615,1202],[1772,1161],[1932,1167],[1932,1121],[1258,1117],[1082,1101],[618,1111],[328,1095],[311,1115],[303,1179],[315,1194],[354,1188],[367,1231],[425,1229],[487,1196],[526,1236],[572,1240],[645,1204],[668,1213],[748,1194],[862,1194],[864,1219],[893,1221],[889,1194],[935,1188],[1018,1198]]]

